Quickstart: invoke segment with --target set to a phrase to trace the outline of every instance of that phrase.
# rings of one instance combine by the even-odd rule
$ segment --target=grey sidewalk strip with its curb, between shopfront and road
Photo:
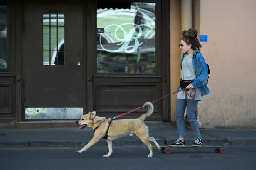
[[[178,136],[177,128],[170,123],[146,122],[149,136],[156,139],[159,145],[171,144]],[[256,145],[256,129],[201,129],[203,145]],[[48,128],[48,129],[13,129],[0,128],[0,148],[7,147],[82,147],[92,139],[94,131],[90,128]],[[193,132],[186,130],[186,145],[195,141]],[[100,139],[94,146],[107,146]],[[140,139],[126,136],[116,139],[113,146],[144,145]]]

